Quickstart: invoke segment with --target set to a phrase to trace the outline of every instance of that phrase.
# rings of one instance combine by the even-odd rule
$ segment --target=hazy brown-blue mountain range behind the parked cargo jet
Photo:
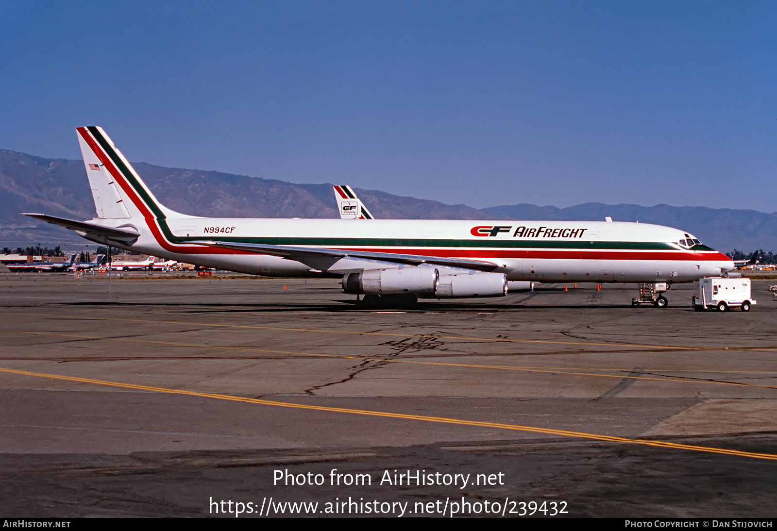
[[[294,184],[247,175],[132,163],[163,204],[207,217],[338,217],[332,185]],[[353,184],[353,183],[338,183]],[[354,187],[377,218],[451,220],[639,221],[678,227],[723,252],[777,250],[777,213],[706,206],[584,203],[566,208],[527,203],[475,209]],[[0,150],[0,247],[83,246],[71,231],[21,212],[85,220],[95,216],[83,162]]]

